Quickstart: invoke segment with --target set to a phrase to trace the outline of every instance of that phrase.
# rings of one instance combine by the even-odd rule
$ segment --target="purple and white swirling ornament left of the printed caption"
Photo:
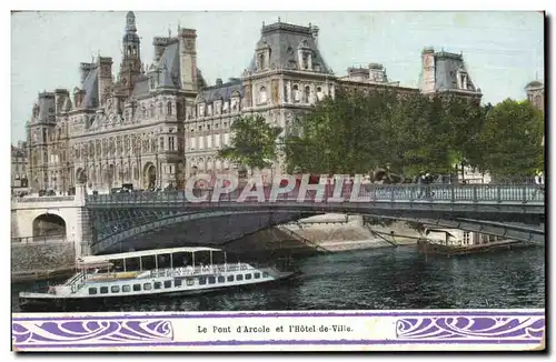
[[[12,322],[16,345],[57,343],[171,342],[173,329],[169,320],[61,320]]]

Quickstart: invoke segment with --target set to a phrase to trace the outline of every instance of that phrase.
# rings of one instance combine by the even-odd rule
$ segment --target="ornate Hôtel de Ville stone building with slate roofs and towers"
[[[39,94],[28,124],[31,187],[181,188],[197,172],[238,169],[218,158],[238,115],[259,113],[292,132],[296,119],[315,102],[346,89],[449,91],[480,99],[460,54],[425,49],[424,86],[413,89],[390,82],[376,63],[335,76],[319,51],[318,33],[311,24],[264,24],[242,74],[209,87],[197,64],[196,30],[178,28],[175,37],[153,38],[155,59],[146,66],[136,17],[128,12],[117,77],[112,58],[99,56],[80,64],[72,99],[67,90]],[[282,161],[264,177],[281,173]]]

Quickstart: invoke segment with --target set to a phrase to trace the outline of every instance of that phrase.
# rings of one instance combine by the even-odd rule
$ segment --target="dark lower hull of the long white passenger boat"
[[[219,285],[205,289],[189,289],[179,291],[168,291],[157,294],[140,294],[140,295],[108,295],[97,298],[49,298],[49,296],[20,296],[19,308],[22,312],[66,312],[66,311],[109,311],[115,304],[125,304],[129,302],[153,301],[167,298],[177,296],[193,296],[206,293],[230,292],[238,290],[248,290],[257,286],[275,285],[280,282],[298,276],[300,271],[284,273],[274,280],[266,280],[256,283],[236,284],[236,285]]]

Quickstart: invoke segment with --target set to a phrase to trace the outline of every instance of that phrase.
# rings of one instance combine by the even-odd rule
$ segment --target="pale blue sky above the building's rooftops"
[[[24,139],[38,92],[73,89],[80,62],[112,57],[117,71],[126,12],[21,12],[11,16],[12,142]],[[152,38],[197,29],[198,67],[209,84],[239,77],[249,64],[262,22],[318,26],[319,48],[336,74],[380,62],[391,81],[417,87],[424,47],[463,52],[484,102],[525,98],[544,77],[544,18],[539,12],[142,12],[136,11],[141,58],[152,61]]]

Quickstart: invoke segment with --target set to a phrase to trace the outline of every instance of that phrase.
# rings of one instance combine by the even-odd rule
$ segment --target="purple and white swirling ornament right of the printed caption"
[[[532,340],[540,341],[545,316],[423,316],[396,322],[401,340]]]

